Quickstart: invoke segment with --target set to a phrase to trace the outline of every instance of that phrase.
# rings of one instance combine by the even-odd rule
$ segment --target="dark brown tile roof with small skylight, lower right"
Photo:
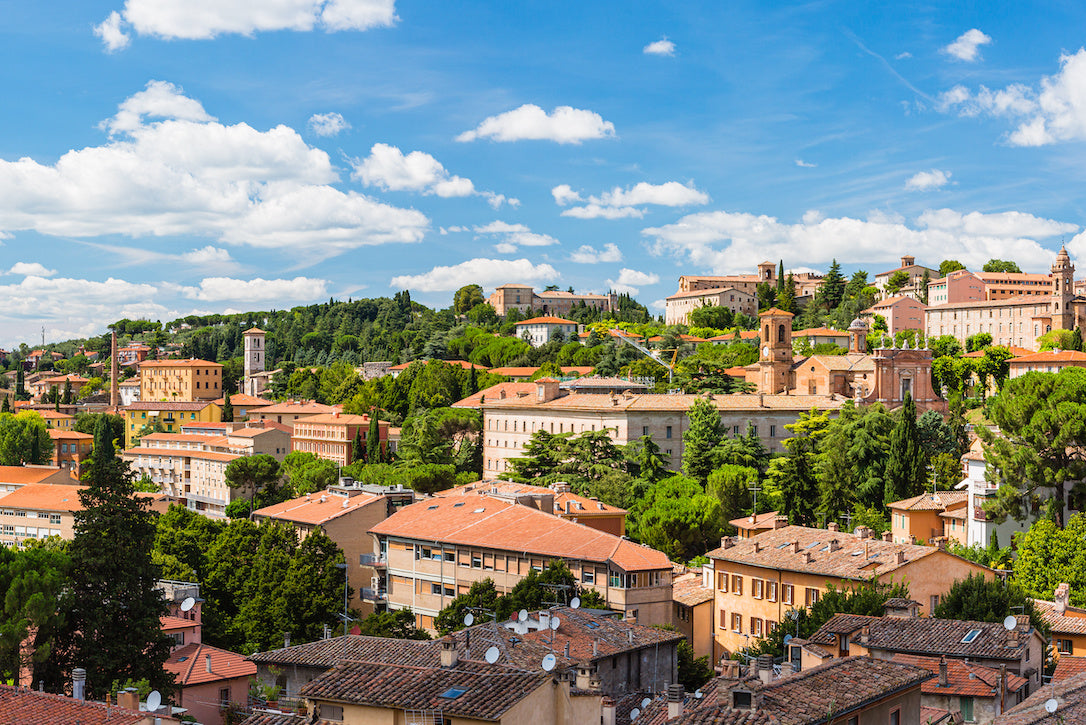
[[[867,644],[857,639],[863,627],[868,631]],[[973,639],[963,641],[973,631],[977,632]],[[870,649],[891,652],[1021,661],[1033,632],[1030,618],[1019,615],[1014,629],[1016,645],[1008,647],[1008,633],[1001,622],[834,614],[810,636],[810,640],[836,646],[838,637],[848,636]]]

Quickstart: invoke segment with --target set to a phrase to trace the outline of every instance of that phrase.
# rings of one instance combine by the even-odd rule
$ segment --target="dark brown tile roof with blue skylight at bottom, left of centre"
[[[519,672],[479,662],[459,662],[449,669],[348,662],[310,682],[300,695],[396,710],[441,710],[446,717],[498,720],[535,690],[550,686],[551,676],[542,670]]]

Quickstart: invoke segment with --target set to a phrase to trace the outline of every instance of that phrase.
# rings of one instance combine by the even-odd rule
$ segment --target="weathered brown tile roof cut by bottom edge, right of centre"
[[[851,713],[859,714],[875,702],[918,687],[931,676],[926,670],[909,664],[846,657],[768,684],[757,677],[731,682],[717,678],[711,683],[715,685],[711,695],[692,703],[690,713],[669,722],[675,725],[816,725],[825,723],[826,713],[831,711],[834,722],[845,722]],[[733,689],[754,692],[758,698],[757,710],[731,709],[729,699]],[[703,692],[705,690],[703,688]],[[667,704],[649,707],[666,708]]]

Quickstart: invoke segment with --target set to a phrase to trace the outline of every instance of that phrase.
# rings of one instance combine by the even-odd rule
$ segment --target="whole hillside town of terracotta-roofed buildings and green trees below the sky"
[[[0,711],[1086,722],[1086,281],[931,264],[3,351]]]

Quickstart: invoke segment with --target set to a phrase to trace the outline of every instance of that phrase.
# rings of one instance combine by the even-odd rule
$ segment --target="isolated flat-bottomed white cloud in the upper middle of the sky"
[[[494,141],[542,140],[557,143],[580,143],[589,139],[615,136],[615,124],[592,111],[560,105],[550,114],[538,105],[526,103],[519,109],[490,116],[457,141],[493,139]]]

